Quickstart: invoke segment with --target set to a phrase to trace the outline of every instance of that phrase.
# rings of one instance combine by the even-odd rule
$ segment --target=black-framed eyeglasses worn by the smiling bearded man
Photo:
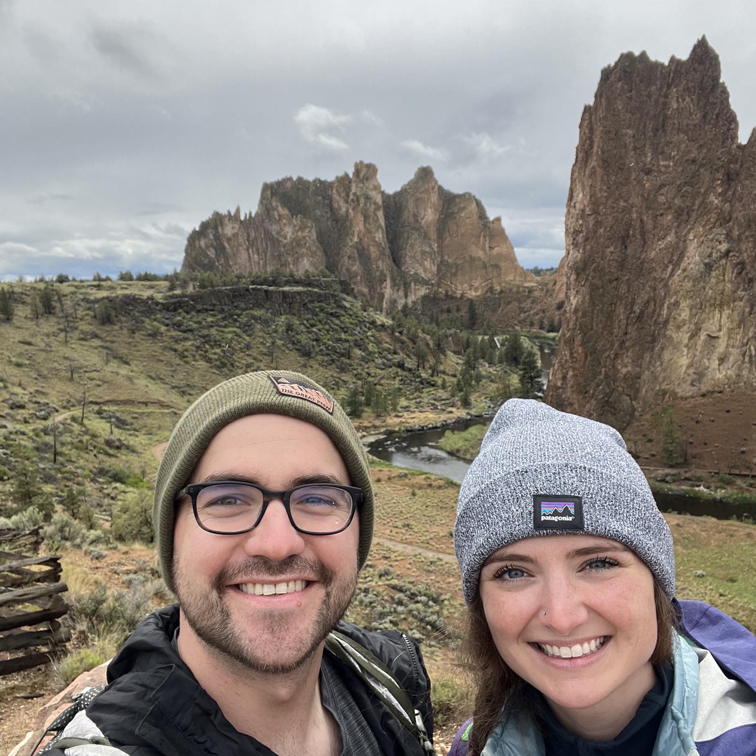
[[[209,533],[238,535],[259,525],[273,499],[283,501],[289,522],[300,533],[333,535],[349,527],[363,501],[361,488],[312,483],[288,491],[266,491],[253,483],[221,480],[191,483],[176,494],[191,497],[197,525]]]

